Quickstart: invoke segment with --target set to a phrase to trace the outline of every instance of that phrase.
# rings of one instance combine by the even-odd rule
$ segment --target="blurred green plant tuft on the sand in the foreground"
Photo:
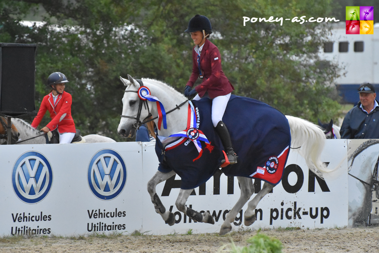
[[[270,238],[265,234],[258,233],[246,240],[249,246],[238,247],[231,243],[231,253],[280,253],[282,244],[276,238]]]

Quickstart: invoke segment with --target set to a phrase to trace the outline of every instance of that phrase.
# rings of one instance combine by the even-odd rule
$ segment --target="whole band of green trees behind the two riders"
[[[82,135],[117,141],[124,86],[119,76],[154,78],[183,91],[192,71],[193,43],[184,33],[195,14],[210,18],[234,94],[313,122],[339,116],[337,66],[321,61],[326,27],[318,23],[247,22],[243,17],[325,17],[329,0],[46,1],[0,0],[0,42],[35,43],[36,108],[50,73],[69,79],[72,116]],[[199,10],[201,10],[199,12]],[[232,10],[232,11],[229,11]],[[38,13],[43,26],[20,20]],[[41,125],[49,122],[46,115]]]

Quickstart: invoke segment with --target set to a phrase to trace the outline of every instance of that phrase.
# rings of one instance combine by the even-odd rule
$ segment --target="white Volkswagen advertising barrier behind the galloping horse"
[[[327,141],[322,160],[335,167],[347,151],[346,140]],[[176,176],[157,187],[166,209],[175,214],[176,224],[170,227],[155,213],[146,190],[158,167],[154,143],[1,145],[0,153],[0,235],[218,232],[240,196],[236,178],[216,174],[187,201],[199,212],[209,211],[216,223],[195,223],[175,207],[180,187]],[[333,181],[319,180],[291,150],[287,174],[259,203],[252,227],[346,226],[346,159],[340,170]],[[246,207],[233,229],[243,226]]]

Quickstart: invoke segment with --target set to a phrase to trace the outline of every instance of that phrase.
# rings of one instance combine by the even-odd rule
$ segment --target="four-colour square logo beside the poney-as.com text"
[[[374,7],[346,6],[346,34],[373,34]]]

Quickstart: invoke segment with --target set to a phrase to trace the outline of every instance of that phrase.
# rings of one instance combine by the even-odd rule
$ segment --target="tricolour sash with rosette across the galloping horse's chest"
[[[188,103],[187,129],[184,131],[180,131],[179,133],[170,135],[168,138],[170,138],[170,137],[181,137],[181,138],[179,140],[177,140],[176,142],[167,145],[165,149],[166,150],[173,149],[176,146],[182,144],[186,139],[189,139],[195,144],[195,147],[199,152],[199,156],[196,157],[194,159],[194,161],[199,159],[203,154],[203,149],[201,147],[200,141],[203,141],[203,142],[208,143],[208,144],[210,144],[210,142],[208,141],[208,139],[204,135],[204,133],[201,130],[199,130],[196,126],[197,126],[197,115],[196,115],[196,112],[194,109],[194,105],[192,104],[191,101],[189,101],[189,103]],[[168,138],[165,138],[167,140],[167,142],[169,140],[172,140],[172,139],[168,139]],[[162,141],[162,143],[164,143],[164,142],[165,141]]]

